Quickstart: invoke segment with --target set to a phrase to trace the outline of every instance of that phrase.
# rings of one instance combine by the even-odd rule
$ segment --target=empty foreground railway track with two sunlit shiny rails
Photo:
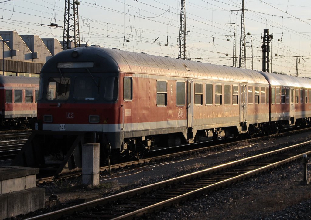
[[[134,219],[311,154],[311,141],[211,167],[30,219]]]

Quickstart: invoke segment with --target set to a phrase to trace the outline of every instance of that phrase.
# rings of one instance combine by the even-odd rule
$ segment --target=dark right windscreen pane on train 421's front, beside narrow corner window
[[[73,85],[73,99],[95,100],[99,97],[98,77],[77,77]]]

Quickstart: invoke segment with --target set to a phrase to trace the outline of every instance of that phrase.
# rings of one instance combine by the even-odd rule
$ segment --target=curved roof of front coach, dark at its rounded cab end
[[[73,51],[78,52],[76,58],[72,56]],[[60,52],[45,63],[41,73],[58,72],[58,62],[81,61],[94,62],[94,67],[89,69],[91,72],[128,72],[267,84],[258,71],[101,47],[72,48]],[[61,71],[72,72],[72,68],[61,68]],[[75,68],[74,71],[87,73],[85,69]]]

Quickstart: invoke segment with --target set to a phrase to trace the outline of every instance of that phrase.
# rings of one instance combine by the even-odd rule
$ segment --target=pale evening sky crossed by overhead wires
[[[238,57],[242,0],[185,2],[187,58],[232,66],[233,23]],[[176,58],[180,7],[180,0],[80,1],[80,43]],[[65,0],[0,0],[0,30],[62,41],[64,9]],[[262,70],[262,33],[269,29],[270,72],[295,76],[297,67],[299,77],[311,77],[311,1],[244,0],[244,9],[246,68],[253,49],[253,69]]]

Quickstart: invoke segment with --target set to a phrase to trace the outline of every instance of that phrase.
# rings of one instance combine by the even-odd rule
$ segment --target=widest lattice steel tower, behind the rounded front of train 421
[[[72,48],[71,42],[73,47],[80,45],[78,5],[79,1],[65,0],[63,50]]]

